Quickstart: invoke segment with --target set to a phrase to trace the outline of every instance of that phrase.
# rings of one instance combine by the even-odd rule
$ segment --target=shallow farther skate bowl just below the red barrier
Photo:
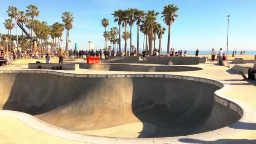
[[[185,72],[201,70],[199,67],[169,66],[169,65],[139,65],[139,64],[82,64],[81,69],[105,71],[130,71],[130,72]]]

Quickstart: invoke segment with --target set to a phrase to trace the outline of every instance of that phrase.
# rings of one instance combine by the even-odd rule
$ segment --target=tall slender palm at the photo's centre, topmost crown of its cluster
[[[128,10],[126,10],[126,14],[127,14],[127,18],[128,18],[128,24],[130,26],[130,55],[131,55],[131,46],[132,46],[132,26],[133,23],[135,22],[135,11],[137,11],[138,9],[134,9],[134,8],[128,8]]]

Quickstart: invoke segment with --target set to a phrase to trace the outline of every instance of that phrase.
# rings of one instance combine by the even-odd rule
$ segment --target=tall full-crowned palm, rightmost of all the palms
[[[179,17],[176,13],[179,8],[176,5],[169,4],[163,7],[163,12],[161,13],[166,25],[168,25],[168,44],[167,44],[167,54],[170,51],[170,38],[171,38],[171,24],[175,21],[175,18]]]

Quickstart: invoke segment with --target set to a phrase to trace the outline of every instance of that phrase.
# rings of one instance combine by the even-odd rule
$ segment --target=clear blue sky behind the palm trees
[[[61,22],[64,11],[74,13],[73,29],[69,34],[70,48],[78,43],[80,48],[87,49],[87,42],[91,41],[99,49],[104,47],[101,19],[109,19],[107,29],[118,27],[111,15],[113,11],[132,7],[162,12],[163,6],[172,3],[180,9],[177,12],[179,18],[171,27],[171,47],[188,51],[194,51],[195,48],[201,51],[221,47],[225,49],[227,15],[230,14],[229,50],[256,50],[256,0],[4,0],[0,5],[0,33],[8,33],[3,22],[8,19],[6,11],[9,5],[25,11],[27,5],[33,4],[40,10],[40,16],[36,19],[47,21],[48,24]],[[157,17],[157,22],[168,29],[160,16]],[[121,31],[124,29],[121,28]],[[63,40],[66,38],[65,32]],[[21,30],[18,33],[21,34]],[[132,36],[133,45],[136,45],[136,25],[133,26]],[[143,36],[140,33],[140,48]],[[167,48],[167,38],[166,31],[162,40],[163,51]],[[121,43],[123,48],[124,42]],[[158,47],[158,40],[156,45]]]

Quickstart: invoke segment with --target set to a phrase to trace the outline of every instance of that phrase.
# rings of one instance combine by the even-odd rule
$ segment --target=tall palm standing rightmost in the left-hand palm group
[[[66,37],[66,51],[68,49],[68,40],[69,40],[69,30],[72,29],[72,22],[74,21],[74,14],[70,12],[64,12],[61,16],[62,21],[64,22],[64,27],[67,29]]]

